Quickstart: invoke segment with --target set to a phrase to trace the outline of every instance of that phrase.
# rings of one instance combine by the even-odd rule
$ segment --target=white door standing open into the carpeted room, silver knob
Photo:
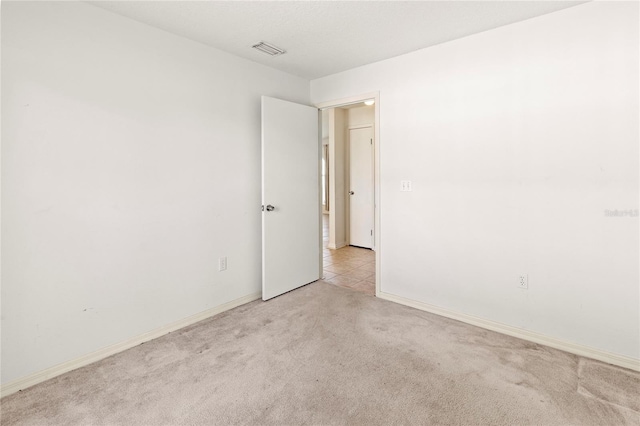
[[[318,110],[262,97],[262,299],[321,277]]]

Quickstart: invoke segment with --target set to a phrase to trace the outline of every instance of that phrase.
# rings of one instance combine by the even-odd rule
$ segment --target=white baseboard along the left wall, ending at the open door
[[[133,348],[134,346],[138,346],[141,343],[148,342],[149,340],[156,339],[160,336],[164,336],[167,333],[179,330],[188,325],[195,324],[198,321],[202,321],[214,315],[218,315],[222,312],[228,311],[229,309],[244,305],[245,303],[253,302],[254,300],[260,299],[261,297],[262,293],[249,294],[239,299],[235,299],[230,302],[223,303],[222,305],[215,306],[211,309],[207,309],[206,311],[199,312],[195,315],[191,315],[190,317],[183,318],[164,327],[160,327],[147,333],[140,334],[131,339],[125,340],[124,342],[107,346],[95,352],[83,355],[79,358],[63,362],[62,364],[54,365],[53,367],[47,368],[46,370],[38,371],[7,384],[3,384],[0,388],[0,397],[10,395],[33,385],[37,385],[38,383],[44,382],[45,380],[67,373],[71,370],[75,370],[76,368],[84,367],[85,365],[100,361],[101,359],[104,359],[108,356]]]

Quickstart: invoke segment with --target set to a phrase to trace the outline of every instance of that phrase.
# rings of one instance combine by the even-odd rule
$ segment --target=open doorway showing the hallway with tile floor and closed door
[[[370,295],[379,291],[376,100],[373,94],[319,106],[323,278]]]

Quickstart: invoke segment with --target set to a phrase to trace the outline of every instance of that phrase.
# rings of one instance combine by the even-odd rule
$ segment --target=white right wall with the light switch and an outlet
[[[638,50],[593,2],[312,81],[380,91],[382,291],[639,358]]]

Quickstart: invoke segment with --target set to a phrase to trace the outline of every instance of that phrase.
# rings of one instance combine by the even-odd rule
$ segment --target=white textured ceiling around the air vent
[[[89,1],[307,79],[345,71],[583,2]],[[287,51],[270,57],[259,41]]]

